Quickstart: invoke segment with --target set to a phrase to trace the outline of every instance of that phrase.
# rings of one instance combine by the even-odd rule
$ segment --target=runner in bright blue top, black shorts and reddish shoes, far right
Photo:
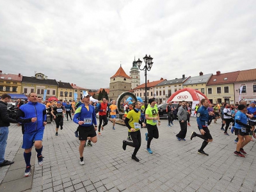
[[[240,104],[238,109],[239,111],[237,111],[235,116],[235,134],[238,136],[238,141],[234,154],[239,157],[245,157],[243,154],[246,154],[246,152],[243,150],[243,147],[250,142],[249,132],[254,129],[247,125],[246,106]]]

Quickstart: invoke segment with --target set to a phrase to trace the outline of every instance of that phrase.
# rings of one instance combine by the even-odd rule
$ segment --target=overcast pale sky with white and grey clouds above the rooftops
[[[149,81],[256,68],[256,1],[0,1],[0,70],[108,88],[153,58]],[[143,62],[143,65],[145,63]],[[140,72],[145,83],[144,72]]]

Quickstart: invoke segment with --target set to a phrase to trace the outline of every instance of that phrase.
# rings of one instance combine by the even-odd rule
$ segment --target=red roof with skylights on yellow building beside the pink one
[[[220,71],[218,71],[216,72],[216,75],[211,76],[207,85],[235,83],[238,75],[239,75],[239,71],[229,72],[225,74],[221,74]]]

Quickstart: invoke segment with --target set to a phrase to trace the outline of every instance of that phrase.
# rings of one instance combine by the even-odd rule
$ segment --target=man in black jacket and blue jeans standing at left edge
[[[7,102],[10,102],[11,96],[3,94],[0,100],[0,166],[13,164],[14,161],[4,160],[5,148],[7,145],[7,138],[10,123],[17,124],[17,121],[10,118],[7,112]]]

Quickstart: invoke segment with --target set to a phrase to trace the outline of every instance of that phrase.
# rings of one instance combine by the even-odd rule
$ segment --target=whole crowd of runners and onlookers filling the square
[[[38,158],[38,165],[42,166],[44,157],[42,156],[42,139],[44,136],[45,125],[47,124],[47,114],[51,116],[56,124],[55,135],[58,136],[58,129],[63,129],[63,118],[68,116],[70,120],[78,124],[75,136],[79,139],[79,164],[84,164],[84,147],[88,140],[88,146],[92,147],[92,143],[97,142],[98,136],[101,135],[100,131],[104,131],[104,127],[108,124],[109,120],[113,123],[113,130],[115,130],[116,115],[119,111],[116,106],[116,101],[112,100],[108,104],[108,100],[102,99],[99,104],[90,102],[90,95],[86,93],[81,97],[79,102],[63,102],[51,101],[43,102],[42,97],[37,97],[36,93],[29,93],[28,101],[17,101],[16,119],[10,118],[7,111],[7,102],[10,102],[10,95],[3,94],[0,100],[0,166],[12,164],[13,161],[4,159],[4,152],[8,138],[8,127],[10,123],[17,124],[22,127],[24,148],[24,160],[26,163],[26,170],[24,176],[28,177],[31,174],[31,149],[35,145],[35,150]],[[217,123],[221,118],[221,131],[225,135],[228,134],[228,128],[230,132],[234,132],[237,135],[236,138],[236,151],[234,154],[239,157],[245,157],[244,146],[253,141],[255,138],[255,124],[256,124],[256,102],[251,102],[249,105],[244,100],[241,100],[239,104],[209,104],[209,100],[202,99],[199,104],[195,106],[196,122],[198,125],[197,134],[195,131],[191,133],[190,139],[201,138],[203,141],[202,146],[198,150],[198,154],[209,156],[204,152],[204,148],[209,142],[211,142],[212,136],[209,131],[209,125],[212,120]],[[122,148],[126,150],[127,146],[134,147],[134,152],[131,156],[134,161],[140,161],[136,156],[138,150],[141,147],[141,127],[147,127],[145,133],[145,140],[147,141],[147,152],[152,154],[150,149],[153,138],[159,138],[159,132],[157,126],[161,125],[159,113],[157,109],[157,102],[154,98],[148,100],[148,104],[141,103],[139,101],[128,101],[123,104],[124,116],[123,120],[127,127],[127,140],[123,140]],[[186,141],[187,125],[190,126],[189,117],[191,116],[192,106],[191,103],[182,100],[178,106],[173,106],[172,102],[168,103],[166,111],[168,113],[168,127],[173,125],[174,120],[178,120],[180,124],[180,132],[176,135],[177,140]],[[99,112],[99,127],[97,126],[96,114]],[[72,115],[73,118],[72,118]],[[172,125],[171,125],[172,124]],[[225,129],[224,129],[225,127]]]

